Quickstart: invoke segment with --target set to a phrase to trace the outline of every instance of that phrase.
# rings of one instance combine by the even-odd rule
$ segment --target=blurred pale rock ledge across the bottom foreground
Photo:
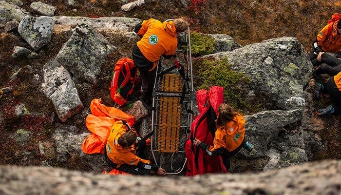
[[[341,161],[233,175],[110,176],[51,167],[0,166],[2,195],[339,195]]]

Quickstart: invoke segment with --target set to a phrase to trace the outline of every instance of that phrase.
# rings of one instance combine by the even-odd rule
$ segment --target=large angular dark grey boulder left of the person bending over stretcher
[[[56,59],[80,82],[97,84],[107,56],[116,48],[87,24],[79,24]]]

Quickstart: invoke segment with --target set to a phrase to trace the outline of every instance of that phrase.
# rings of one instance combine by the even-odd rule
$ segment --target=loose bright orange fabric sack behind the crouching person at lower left
[[[115,121],[125,120],[130,126],[135,122],[135,117],[101,103],[101,99],[93,99],[90,104],[92,114],[85,119],[86,127],[91,132],[82,143],[82,151],[85,154],[104,153],[107,138]]]

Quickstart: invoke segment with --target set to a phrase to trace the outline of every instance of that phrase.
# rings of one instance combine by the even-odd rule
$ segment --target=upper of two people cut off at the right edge
[[[325,52],[337,53],[337,55],[334,57]],[[337,66],[341,63],[341,20],[327,24],[322,28],[313,42],[313,49],[309,57],[313,66],[318,66],[322,63]]]

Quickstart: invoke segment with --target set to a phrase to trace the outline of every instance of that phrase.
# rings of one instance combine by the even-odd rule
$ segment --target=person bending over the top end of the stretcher
[[[188,29],[188,22],[183,18],[161,22],[155,19],[143,20],[134,28],[141,37],[133,46],[133,60],[140,72],[141,98],[152,103],[152,88],[155,80],[155,66],[161,56],[170,59],[177,48],[177,34]]]

